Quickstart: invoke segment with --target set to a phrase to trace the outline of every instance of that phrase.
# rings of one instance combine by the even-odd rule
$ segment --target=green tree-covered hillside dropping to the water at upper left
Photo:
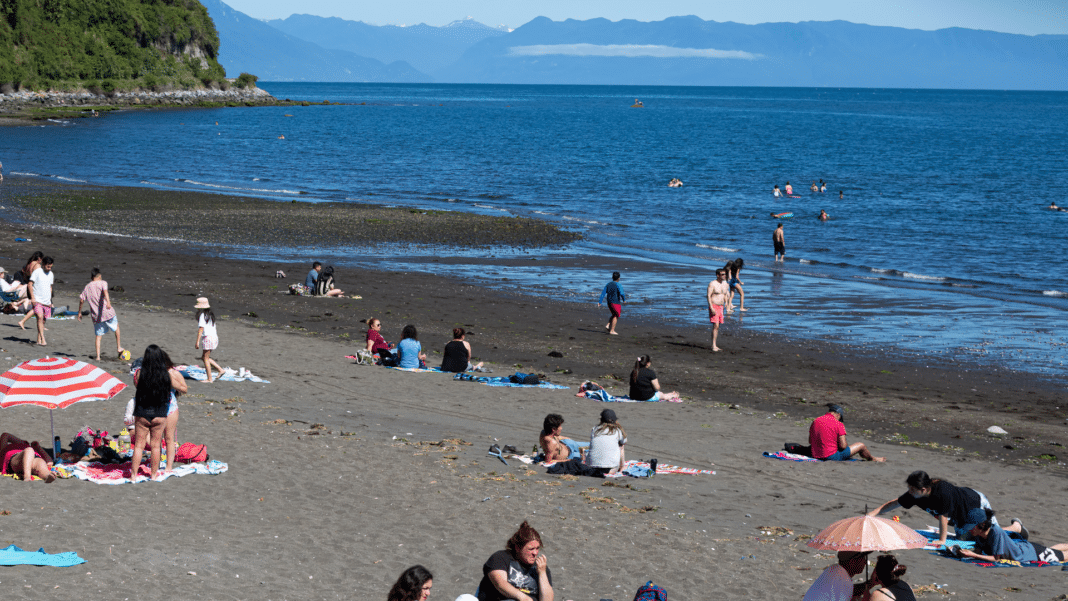
[[[197,0],[0,0],[0,86],[225,86]]]

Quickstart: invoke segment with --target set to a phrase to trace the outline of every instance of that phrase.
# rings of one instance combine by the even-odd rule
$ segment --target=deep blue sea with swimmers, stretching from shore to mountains
[[[398,256],[326,240],[220,249],[230,255],[314,254],[581,302],[626,257],[643,266],[624,278],[632,310],[684,323],[707,322],[705,285],[740,256],[751,311],[732,329],[1064,369],[1068,212],[1046,207],[1068,205],[1068,94],[262,85],[345,105],[4,128],[0,160],[9,173],[93,184],[533,216],[586,235],[529,255],[540,263],[523,269],[485,266],[515,253]],[[645,108],[630,108],[634,98]],[[686,186],[668,188],[672,177]],[[808,190],[818,179],[827,193]],[[787,180],[801,197],[773,199]],[[816,219],[820,209],[830,221]],[[775,265],[770,213],[782,211],[795,217],[787,262]],[[455,258],[434,263],[442,254]]]

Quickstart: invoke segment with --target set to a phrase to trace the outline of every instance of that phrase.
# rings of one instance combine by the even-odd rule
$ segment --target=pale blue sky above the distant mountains
[[[661,20],[696,15],[742,23],[824,21],[943,29],[964,27],[1008,33],[1068,33],[1066,0],[223,0],[255,18],[292,14],[341,17],[373,25],[442,26],[474,17],[486,25],[519,27],[537,16],[553,20],[604,17],[611,20]]]

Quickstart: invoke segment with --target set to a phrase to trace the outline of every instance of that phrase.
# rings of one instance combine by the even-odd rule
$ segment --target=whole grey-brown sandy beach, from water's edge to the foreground
[[[362,299],[293,297],[284,290],[302,281],[308,263],[219,259],[206,256],[204,242],[163,248],[0,225],[0,265],[9,270],[37,249],[56,257],[57,305],[77,305],[94,266],[121,287],[112,298],[135,354],[156,343],[194,364],[192,305],[207,296],[220,318],[213,357],[270,381],[190,382],[179,400],[179,441],[206,444],[229,464],[225,474],[114,487],[3,478],[0,509],[11,512],[0,516],[3,545],[88,559],[4,568],[9,598],[383,599],[400,571],[422,564],[435,574],[430,598],[452,600],[474,591],[483,563],[527,519],[545,540],[559,600],[629,600],[647,580],[676,600],[800,599],[834,560],[805,537],[897,496],[920,469],[983,491],[1000,516],[1023,519],[1033,540],[1068,541],[1057,518],[1068,489],[1065,397],[1053,385],[859,360],[846,347],[729,329],[720,338],[728,350],[714,355],[707,331],[624,319],[623,335],[609,337],[604,312],[592,303],[502,296],[424,274],[346,269],[339,286]],[[598,281],[611,271],[588,267]],[[288,278],[277,280],[279,269]],[[431,364],[460,325],[493,375],[534,370],[570,390],[355,365],[345,355],[362,346],[368,317],[383,321],[390,341],[415,325]],[[45,354],[27,326],[0,317],[7,367]],[[91,359],[88,322],[49,328],[48,354]],[[112,359],[99,365],[131,383],[127,365],[113,359],[113,338],[104,348]],[[486,455],[494,443],[529,450],[549,412],[567,420],[565,436],[587,438],[607,406],[575,397],[575,386],[594,379],[625,394],[643,352],[685,402],[612,406],[628,432],[628,458],[714,475],[565,478]],[[117,430],[131,396],[129,389],[58,410],[57,433],[68,443],[84,425]],[[829,401],[846,406],[850,441],[868,443],[885,464],[761,456],[803,442],[807,421]],[[48,434],[48,413],[38,408],[0,410],[0,424],[28,439]],[[991,425],[1009,436],[987,434]],[[918,510],[900,515],[916,528],[936,524]],[[945,585],[923,595],[929,599],[1046,600],[1065,591],[1058,568],[981,569],[922,550],[898,558],[914,588]]]

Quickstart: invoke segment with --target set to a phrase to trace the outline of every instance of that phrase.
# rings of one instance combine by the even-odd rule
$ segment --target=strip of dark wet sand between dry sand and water
[[[140,194],[122,188],[94,190],[117,196]],[[193,197],[219,202],[214,194],[178,196],[176,202]],[[480,225],[477,220],[470,220],[457,227],[466,227],[461,232],[467,232]],[[713,355],[707,348],[706,329],[634,319],[627,314],[621,330],[624,335],[609,338],[600,331],[603,309],[592,302],[557,300],[551,295],[522,296],[451,278],[397,270],[341,268],[336,274],[339,287],[363,296],[363,300],[339,300],[329,314],[318,315],[317,309],[324,302],[333,301],[292,297],[283,290],[289,283],[303,280],[313,258],[329,264],[328,257],[309,256],[307,262],[295,264],[223,259],[211,256],[217,251],[204,243],[75,234],[11,223],[5,228],[9,240],[17,236],[33,239],[28,244],[0,243],[0,252],[9,257],[5,263],[12,263],[5,265],[9,269],[16,269],[15,263],[25,260],[19,256],[37,248],[57,257],[93,256],[90,249],[112,249],[94,265],[105,271],[112,285],[125,288],[125,292],[115,295],[120,301],[132,299],[147,306],[180,311],[184,305],[177,299],[206,294],[219,298],[229,315],[246,322],[303,330],[349,343],[362,342],[365,327],[361,320],[371,316],[386,322],[383,333],[388,339],[395,339],[400,328],[411,322],[425,332],[421,339],[431,363],[440,357],[437,353],[447,342],[447,332],[460,325],[472,331],[469,339],[475,355],[498,366],[499,371],[513,366],[517,366],[515,370],[536,369],[554,382],[569,385],[593,379],[609,385],[615,394],[626,393],[623,380],[632,363],[627,358],[650,353],[665,390],[679,390],[702,407],[738,406],[782,412],[785,417],[804,421],[820,414],[823,404],[839,402],[852,413],[849,428],[853,438],[864,437],[880,444],[944,447],[962,457],[993,457],[1065,472],[1063,457],[1039,459],[1050,455],[1051,448],[1068,444],[1063,389],[1055,381],[1040,381],[1028,374],[976,373],[953,363],[932,365],[900,357],[862,357],[848,345],[738,328],[727,328],[721,334],[721,346],[726,351]],[[33,234],[27,236],[29,231]],[[483,233],[497,236],[499,241],[503,235]],[[50,250],[57,248],[66,250]],[[119,260],[126,257],[161,266],[171,276]],[[587,260],[583,268],[604,272],[608,266],[599,263]],[[210,267],[205,267],[208,264]],[[523,266],[530,262],[512,258],[501,264]],[[88,272],[94,265],[87,263],[78,269]],[[274,280],[277,269],[289,278]],[[206,273],[194,275],[199,270]],[[59,272],[70,273],[63,266]],[[175,273],[182,275],[176,278]],[[213,276],[219,273],[225,274],[222,281]],[[66,279],[79,281],[73,274]],[[247,314],[251,315],[238,317]],[[354,343],[350,349],[355,348]],[[564,357],[548,358],[551,351]],[[992,425],[1008,430],[1008,437],[1003,440],[987,434],[986,429]],[[797,433],[803,439],[806,430]]]

